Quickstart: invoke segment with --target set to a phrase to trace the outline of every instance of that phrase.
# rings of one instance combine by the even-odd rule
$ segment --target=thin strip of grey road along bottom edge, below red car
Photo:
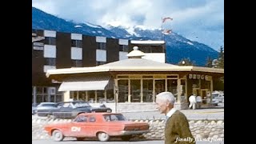
[[[121,142],[121,141],[112,141],[112,142],[98,142],[98,141],[63,141],[63,142],[54,142],[52,140],[33,140],[32,144],[102,144],[102,143],[108,143],[108,144],[164,144],[164,141],[138,141],[138,142]],[[216,141],[216,142],[210,142],[210,141],[205,141],[205,142],[196,142],[197,144],[224,144],[224,141]]]

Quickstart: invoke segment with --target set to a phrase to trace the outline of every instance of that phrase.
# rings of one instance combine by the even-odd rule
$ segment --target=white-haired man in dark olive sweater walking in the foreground
[[[161,114],[166,114],[165,144],[195,143],[186,116],[174,109],[174,94],[162,92],[156,96],[157,108]]]

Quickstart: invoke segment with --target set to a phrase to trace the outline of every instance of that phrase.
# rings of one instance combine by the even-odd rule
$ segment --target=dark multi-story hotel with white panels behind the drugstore
[[[61,102],[60,82],[46,78],[46,70],[90,67],[128,58],[134,46],[145,59],[166,62],[164,41],[128,39],[70,34],[52,30],[32,30],[32,103]]]

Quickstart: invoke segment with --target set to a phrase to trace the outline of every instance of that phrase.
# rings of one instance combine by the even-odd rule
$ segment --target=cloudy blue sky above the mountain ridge
[[[48,14],[99,26],[171,29],[214,50],[224,46],[224,0],[32,0]],[[170,17],[162,23],[162,18]]]

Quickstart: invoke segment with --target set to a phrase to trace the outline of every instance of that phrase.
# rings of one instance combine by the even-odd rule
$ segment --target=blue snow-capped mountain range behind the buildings
[[[75,23],[46,14],[42,10],[32,7],[32,29],[56,30],[67,33],[78,33],[107,38],[124,38],[133,40],[161,40],[166,41],[166,62],[177,64],[182,58],[190,58],[197,66],[205,66],[206,58],[217,58],[218,52],[210,46],[193,42],[172,32],[162,37],[159,29],[146,30],[140,26],[98,26],[86,23]]]

